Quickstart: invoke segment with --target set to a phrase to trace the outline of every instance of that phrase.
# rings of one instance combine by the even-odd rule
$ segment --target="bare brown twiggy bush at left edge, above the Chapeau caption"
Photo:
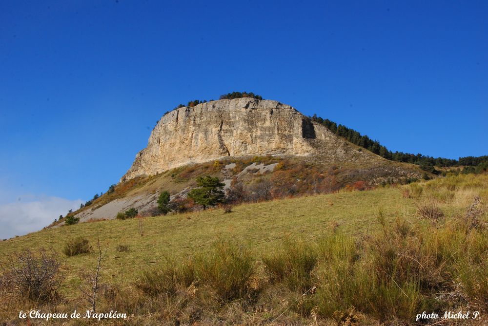
[[[56,301],[61,286],[61,261],[54,251],[37,255],[26,249],[13,253],[0,265],[0,286],[7,293],[34,302]]]

